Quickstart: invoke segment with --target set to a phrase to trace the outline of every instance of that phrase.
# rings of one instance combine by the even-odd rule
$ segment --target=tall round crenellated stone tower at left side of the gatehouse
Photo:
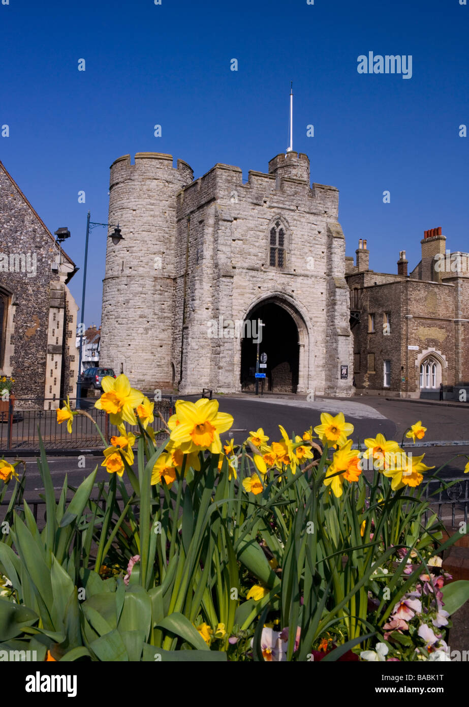
[[[145,392],[172,385],[176,194],[194,179],[183,160],[139,152],[111,165],[100,366]],[[115,239],[114,239],[115,240]]]

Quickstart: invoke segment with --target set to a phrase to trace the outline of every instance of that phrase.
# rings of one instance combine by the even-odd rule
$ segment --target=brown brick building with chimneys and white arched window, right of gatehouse
[[[469,255],[447,250],[441,228],[420,243],[410,274],[405,251],[396,274],[369,269],[366,241],[355,265],[346,257],[357,393],[437,399],[442,384],[459,399],[469,388]]]

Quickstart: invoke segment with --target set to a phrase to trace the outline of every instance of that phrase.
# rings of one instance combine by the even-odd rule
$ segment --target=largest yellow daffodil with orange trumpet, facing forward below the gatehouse
[[[174,416],[172,416],[174,417]],[[233,424],[233,417],[226,412],[218,412],[218,401],[201,398],[195,403],[178,400],[176,420],[172,421],[170,440],[185,452],[208,449],[220,454],[222,443],[220,433],[226,432]]]

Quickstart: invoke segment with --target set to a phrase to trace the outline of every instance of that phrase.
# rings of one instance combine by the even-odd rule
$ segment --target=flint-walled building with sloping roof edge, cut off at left
[[[75,272],[0,162],[0,373],[15,379],[17,408],[51,409],[75,395]]]

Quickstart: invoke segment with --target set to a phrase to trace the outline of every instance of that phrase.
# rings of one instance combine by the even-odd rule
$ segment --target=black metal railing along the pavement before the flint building
[[[76,399],[71,399],[71,408],[76,409]],[[0,454],[38,450],[40,436],[46,450],[67,450],[102,447],[102,439],[95,427],[100,429],[105,440],[119,434],[117,427],[109,423],[109,416],[104,410],[94,407],[92,399],[81,399],[81,409],[90,417],[73,417],[72,431],[67,430],[66,422],[57,423],[57,399],[16,398],[14,404],[8,402],[8,411],[0,416]],[[44,409],[46,408],[46,409]],[[162,395],[155,402],[155,432],[165,429],[162,418],[167,421],[174,411],[174,396]],[[125,425],[129,429],[129,425]],[[133,428],[135,431],[135,428]]]

